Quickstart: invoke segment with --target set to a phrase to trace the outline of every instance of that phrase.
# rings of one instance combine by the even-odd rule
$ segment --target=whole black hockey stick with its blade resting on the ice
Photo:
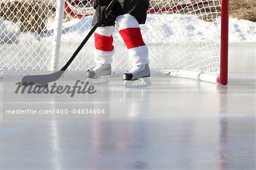
[[[109,6],[106,8],[104,14],[109,13],[109,11],[115,5],[115,2],[117,2],[117,0],[112,0],[112,2],[109,3]],[[60,76],[65,72],[65,70],[69,67],[69,65],[72,63],[72,61],[75,59],[77,54],[81,51],[82,47],[84,47],[85,43],[89,40],[90,36],[92,36],[92,34],[96,30],[96,28],[98,26],[100,26],[100,24],[101,24],[100,22],[97,22],[95,24],[95,26],[93,26],[92,30],[90,30],[88,35],[85,37],[85,39],[79,45],[79,47],[76,49],[75,53],[73,53],[72,57],[68,60],[68,62],[64,65],[64,67],[60,69],[60,71],[57,71],[57,72],[51,73],[51,74],[45,74],[45,75],[24,76],[22,78],[22,85],[28,86],[28,85],[39,84],[41,86],[46,86],[48,82],[58,80],[60,78]]]

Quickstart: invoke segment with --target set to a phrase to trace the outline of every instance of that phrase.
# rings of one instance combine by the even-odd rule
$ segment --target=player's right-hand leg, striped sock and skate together
[[[143,41],[138,20],[130,14],[119,15],[116,19],[119,33],[133,62],[133,68],[123,74],[123,85],[127,88],[150,86],[148,48]]]

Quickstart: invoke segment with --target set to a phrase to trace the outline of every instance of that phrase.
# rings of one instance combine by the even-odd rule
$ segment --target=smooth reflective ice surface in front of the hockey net
[[[0,169],[255,169],[255,44],[229,50],[227,86],[154,77],[150,88],[126,89],[112,78],[99,98],[109,119],[1,121]],[[78,103],[13,105],[42,101]]]

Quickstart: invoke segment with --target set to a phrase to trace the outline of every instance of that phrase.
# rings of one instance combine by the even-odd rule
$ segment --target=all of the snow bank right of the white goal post
[[[92,17],[74,19],[65,23],[63,38],[70,39],[77,35],[83,35],[91,28]],[[141,25],[143,37],[147,43],[160,42],[207,42],[219,41],[220,22],[205,22],[195,15],[148,15],[146,24]],[[191,24],[193,23],[193,24]],[[256,42],[255,22],[230,18],[229,42]],[[116,30],[117,31],[117,30]],[[81,38],[83,37],[81,36]],[[115,39],[121,39],[118,34]],[[80,41],[80,39],[77,39]]]

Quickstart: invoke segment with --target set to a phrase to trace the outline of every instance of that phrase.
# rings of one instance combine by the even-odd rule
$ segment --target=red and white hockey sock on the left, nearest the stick
[[[112,63],[114,55],[113,32],[114,26],[98,27],[94,32],[94,61],[100,64]]]

